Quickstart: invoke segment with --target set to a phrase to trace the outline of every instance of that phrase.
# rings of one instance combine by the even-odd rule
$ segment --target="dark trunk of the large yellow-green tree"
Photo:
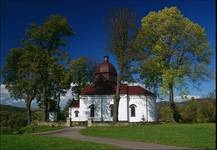
[[[169,84],[169,101],[170,101],[170,108],[172,110],[173,120],[175,122],[179,122],[181,117],[180,117],[180,114],[176,108],[176,104],[174,102],[173,84],[172,83]]]

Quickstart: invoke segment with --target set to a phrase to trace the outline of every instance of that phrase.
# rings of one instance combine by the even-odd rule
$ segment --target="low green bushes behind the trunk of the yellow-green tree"
[[[178,110],[183,123],[215,123],[216,122],[216,101],[203,99],[192,99],[183,104],[177,103]],[[172,112],[169,106],[158,108],[160,122],[172,122]]]

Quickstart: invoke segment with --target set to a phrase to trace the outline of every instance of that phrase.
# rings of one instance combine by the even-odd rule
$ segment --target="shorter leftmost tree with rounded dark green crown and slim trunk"
[[[38,74],[34,47],[13,48],[3,68],[3,83],[15,99],[24,100],[28,124],[31,123],[31,103],[37,94]]]

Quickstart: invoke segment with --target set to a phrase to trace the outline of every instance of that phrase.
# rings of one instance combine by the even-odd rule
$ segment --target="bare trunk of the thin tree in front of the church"
[[[113,113],[113,122],[118,122],[118,108],[119,108],[119,101],[120,101],[120,77],[117,78],[117,87],[116,87],[116,93],[114,96],[114,113]]]

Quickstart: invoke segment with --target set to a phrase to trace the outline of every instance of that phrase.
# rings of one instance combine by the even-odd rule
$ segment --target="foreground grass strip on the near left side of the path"
[[[100,150],[118,147],[36,135],[1,135],[1,150]]]

